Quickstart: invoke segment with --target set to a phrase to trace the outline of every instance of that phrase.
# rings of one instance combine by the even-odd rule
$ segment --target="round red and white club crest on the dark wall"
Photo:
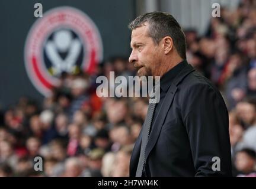
[[[25,42],[25,67],[31,82],[47,96],[63,72],[91,73],[101,61],[100,33],[84,12],[68,6],[38,18]]]

